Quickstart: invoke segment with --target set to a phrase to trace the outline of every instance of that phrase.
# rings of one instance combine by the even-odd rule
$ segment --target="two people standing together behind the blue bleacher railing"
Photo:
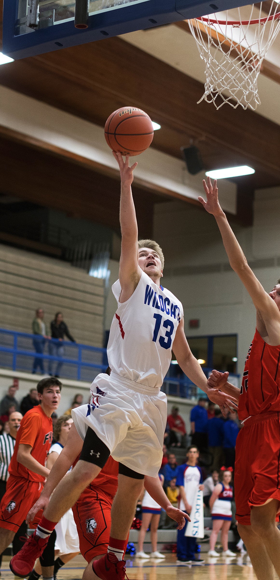
[[[73,336],[68,330],[67,324],[63,320],[61,312],[57,312],[54,316],[54,320],[50,323],[50,329],[44,321],[44,311],[42,308],[38,308],[35,313],[35,318],[32,322],[32,333],[35,335],[33,338],[33,346],[35,352],[40,355],[44,353],[45,344],[47,341],[49,355],[55,356],[58,359],[62,359],[64,356],[64,337],[67,336],[68,340],[71,342],[76,342]],[[53,375],[53,364],[56,367]],[[62,368],[62,360],[53,361],[49,359],[48,361],[48,372],[50,376],[59,377]],[[35,373],[37,369],[45,374],[43,358],[36,356],[34,358],[34,363],[32,367],[32,373]]]

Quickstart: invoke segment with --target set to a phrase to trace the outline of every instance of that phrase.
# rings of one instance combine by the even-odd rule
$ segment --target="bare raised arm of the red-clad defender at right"
[[[249,292],[249,295],[251,296],[257,311],[261,314],[266,326],[269,326],[270,322],[273,321],[273,329],[270,329],[267,326],[268,335],[271,335],[271,338],[273,336],[272,339],[274,339],[275,335],[278,334],[280,339],[280,313],[278,307],[248,266],[240,244],[238,244],[233,230],[231,230],[230,224],[227,221],[226,215],[219,204],[217,180],[215,179],[212,186],[210,177],[207,177],[207,183],[203,180],[203,186],[207,195],[207,201],[205,201],[203,197],[198,197],[198,201],[201,202],[208,213],[212,213],[215,217],[220,233],[222,234],[224,249],[229,257],[232,269],[238,274],[240,280]],[[275,329],[275,324],[277,324],[277,329]]]

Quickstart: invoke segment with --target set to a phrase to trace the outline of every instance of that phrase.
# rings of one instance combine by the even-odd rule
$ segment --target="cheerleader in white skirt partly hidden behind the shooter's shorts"
[[[159,474],[159,478],[161,481],[161,485],[163,485],[164,482],[163,475]],[[157,551],[157,528],[159,527],[160,523],[160,513],[161,513],[160,505],[156,503],[153,498],[151,498],[151,496],[148,494],[148,491],[145,491],[142,500],[142,525],[138,535],[139,552],[136,554],[138,558],[142,559],[165,558],[163,554]],[[149,554],[145,554],[145,552],[143,551],[145,534],[149,526],[150,526],[150,539],[152,543],[152,553],[150,554],[150,556]]]

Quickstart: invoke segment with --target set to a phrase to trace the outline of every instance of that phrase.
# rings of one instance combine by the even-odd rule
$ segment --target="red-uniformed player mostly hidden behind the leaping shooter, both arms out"
[[[34,519],[38,510],[46,507],[58,481],[64,477],[72,464],[76,465],[79,459],[79,455],[76,457],[76,454],[82,451],[82,445],[83,441],[75,425],[72,425],[67,442],[47,478],[44,493],[28,514],[28,521]],[[107,552],[111,507],[117,492],[118,476],[119,463],[109,457],[101,472],[72,507],[79,534],[80,552],[89,563],[84,571],[83,580],[97,580],[98,577],[93,571],[93,561],[100,559]],[[168,516],[177,521],[178,528],[181,529],[185,525],[185,518],[189,519],[189,516],[172,506],[163,491],[159,477],[145,476],[144,485],[149,494],[166,510]]]

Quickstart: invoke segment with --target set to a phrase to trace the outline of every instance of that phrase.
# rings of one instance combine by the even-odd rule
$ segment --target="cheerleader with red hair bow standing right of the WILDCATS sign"
[[[210,536],[210,550],[208,556],[220,556],[215,550],[215,545],[219,531],[223,545],[223,556],[236,556],[229,550],[228,539],[229,529],[233,513],[231,512],[231,501],[233,500],[233,488],[230,485],[232,467],[228,469],[221,467],[222,483],[218,483],[209,499],[209,507],[212,513],[213,528]]]

